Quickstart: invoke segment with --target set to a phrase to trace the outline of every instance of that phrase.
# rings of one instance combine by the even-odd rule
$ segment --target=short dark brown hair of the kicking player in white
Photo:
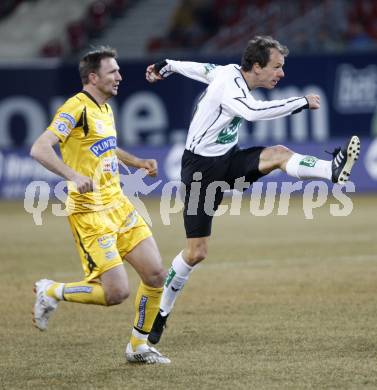
[[[242,70],[248,72],[255,63],[264,68],[270,60],[270,49],[278,50],[284,57],[289,54],[287,46],[282,45],[276,39],[266,36],[256,36],[251,39],[243,53],[241,60]]]

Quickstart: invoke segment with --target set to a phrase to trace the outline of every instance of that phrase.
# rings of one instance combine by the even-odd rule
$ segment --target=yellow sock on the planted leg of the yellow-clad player
[[[149,287],[140,282],[135,299],[135,321],[131,335],[131,346],[135,351],[140,344],[147,342],[154,319],[160,310],[163,287]]]

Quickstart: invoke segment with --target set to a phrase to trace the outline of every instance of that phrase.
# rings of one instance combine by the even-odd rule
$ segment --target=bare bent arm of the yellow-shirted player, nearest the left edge
[[[77,190],[81,194],[93,191],[93,181],[86,176],[80,175],[58,157],[54,150],[54,145],[59,142],[59,138],[49,130],[46,130],[34,142],[30,155],[49,171],[56,173],[66,180],[76,183]]]

